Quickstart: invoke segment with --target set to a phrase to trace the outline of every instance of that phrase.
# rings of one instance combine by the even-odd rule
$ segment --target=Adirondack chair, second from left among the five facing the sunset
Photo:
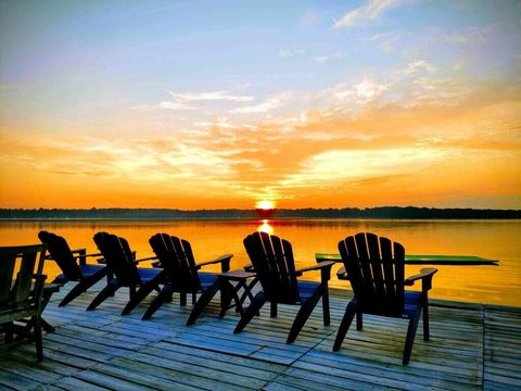
[[[94,235],[94,242],[101,251],[109,269],[114,273],[105,288],[92,300],[87,311],[94,310],[110,295],[122,287],[128,287],[130,299],[122,312],[127,315],[154,289],[160,290],[160,285],[166,281],[166,274],[161,268],[143,268],[137,265],[143,261],[155,260],[155,256],[136,260],[127,240],[107,232]]]

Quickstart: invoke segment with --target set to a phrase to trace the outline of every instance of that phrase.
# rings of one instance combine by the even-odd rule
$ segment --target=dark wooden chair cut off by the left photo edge
[[[14,321],[30,317],[38,361],[43,360],[41,341],[41,298],[46,276],[42,274],[45,244],[0,248],[0,330],[9,348],[15,332]],[[20,328],[26,332],[26,327]],[[20,341],[20,339],[17,339]]]

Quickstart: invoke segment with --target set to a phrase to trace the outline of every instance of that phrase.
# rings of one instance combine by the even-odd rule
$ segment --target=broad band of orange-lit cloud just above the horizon
[[[82,194],[97,206],[126,206],[135,197],[135,205],[196,209],[253,207],[258,194],[290,207],[334,207],[421,200],[433,205],[436,199],[449,203],[455,194],[519,193],[519,83],[433,79],[421,60],[404,68],[421,76],[408,80],[402,92],[407,99],[377,99],[394,93],[393,86],[366,77],[330,88],[332,104],[320,110],[269,121],[247,115],[249,125],[241,116],[191,121],[195,131],[189,136],[175,126],[140,139],[100,135],[51,141],[43,134],[5,133],[0,168],[45,178],[52,189],[46,194],[55,191],[60,200],[65,191],[71,206]],[[285,92],[264,103],[275,110],[290,98]],[[335,111],[335,104],[357,101],[365,102],[358,111]],[[256,112],[265,113],[260,109],[266,106]],[[85,182],[92,186],[80,186]]]

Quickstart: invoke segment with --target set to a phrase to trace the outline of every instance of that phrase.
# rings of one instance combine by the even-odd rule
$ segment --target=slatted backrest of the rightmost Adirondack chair
[[[401,316],[404,311],[404,247],[361,232],[342,240],[339,251],[363,311]]]

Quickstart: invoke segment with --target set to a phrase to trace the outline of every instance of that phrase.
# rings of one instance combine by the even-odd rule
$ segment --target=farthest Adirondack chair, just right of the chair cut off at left
[[[55,261],[62,270],[62,274],[52,282],[61,285],[68,281],[77,282],[63,298],[59,306],[67,305],[103,277],[106,276],[107,280],[112,278],[112,273],[106,266],[87,264],[86,262],[88,256],[100,257],[100,253],[87,254],[86,249],[71,250],[63,237],[45,230],[38,232],[38,238],[40,238],[42,243],[47,244],[49,251],[48,258]]]

